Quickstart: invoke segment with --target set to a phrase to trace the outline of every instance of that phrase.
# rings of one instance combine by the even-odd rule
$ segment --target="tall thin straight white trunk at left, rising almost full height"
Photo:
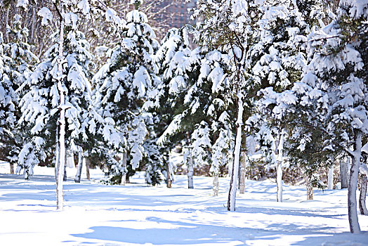
[[[59,162],[58,178],[56,179],[56,207],[63,210],[63,178],[65,169],[65,89],[63,88],[63,43],[64,43],[64,10],[61,8],[60,16],[60,39],[59,39],[59,57],[58,63],[58,92],[60,97],[60,117],[59,117]]]

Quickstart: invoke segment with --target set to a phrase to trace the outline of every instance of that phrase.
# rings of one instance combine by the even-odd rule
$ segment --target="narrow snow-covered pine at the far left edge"
[[[11,164],[11,173],[14,173],[14,164],[18,162],[18,154],[22,148],[23,138],[27,133],[27,130],[21,129],[17,122],[20,118],[20,108],[18,105],[19,95],[16,90],[21,86],[27,77],[29,76],[32,66],[38,62],[37,56],[30,51],[30,46],[27,43],[28,30],[22,28],[22,17],[20,15],[14,16],[14,23],[12,27],[8,27],[7,30],[9,43],[4,45],[4,63],[8,67],[8,71],[4,71],[3,77],[8,77],[7,86],[10,86],[8,90],[13,91],[11,101],[12,104],[6,115],[10,117],[13,115],[13,120],[8,118],[6,120],[8,128],[4,132],[4,136],[1,137],[2,150],[6,161]],[[10,91],[9,91],[10,92]]]

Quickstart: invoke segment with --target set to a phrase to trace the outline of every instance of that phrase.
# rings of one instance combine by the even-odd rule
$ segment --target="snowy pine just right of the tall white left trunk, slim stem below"
[[[100,134],[96,131],[96,125],[103,124],[103,119],[96,112],[91,98],[93,56],[89,52],[90,45],[84,33],[67,27],[65,39],[65,53],[69,72],[67,73],[66,86],[68,93],[67,104],[70,108],[66,111],[67,117],[67,150],[77,153],[78,173],[75,179],[80,181],[82,153],[91,153],[91,142],[96,142],[95,137]]]

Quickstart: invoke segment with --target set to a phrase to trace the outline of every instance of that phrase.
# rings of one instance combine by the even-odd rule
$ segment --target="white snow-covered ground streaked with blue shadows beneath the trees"
[[[368,245],[367,216],[363,233],[348,232],[347,190],[315,190],[305,201],[303,187],[285,186],[279,203],[275,183],[247,181],[236,212],[227,212],[225,178],[213,198],[208,177],[188,190],[185,176],[168,189],[145,185],[142,173],[105,186],[99,170],[81,183],[67,171],[65,210],[56,212],[53,169],[36,167],[25,181],[0,164],[0,245]]]

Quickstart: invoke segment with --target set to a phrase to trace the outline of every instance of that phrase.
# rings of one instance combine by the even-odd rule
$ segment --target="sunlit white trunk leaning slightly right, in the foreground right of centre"
[[[242,147],[243,101],[242,96],[237,95],[237,135],[235,137],[234,160],[232,162],[232,174],[228,195],[228,211],[235,211],[235,198],[237,195],[237,176],[239,171],[240,148]]]

